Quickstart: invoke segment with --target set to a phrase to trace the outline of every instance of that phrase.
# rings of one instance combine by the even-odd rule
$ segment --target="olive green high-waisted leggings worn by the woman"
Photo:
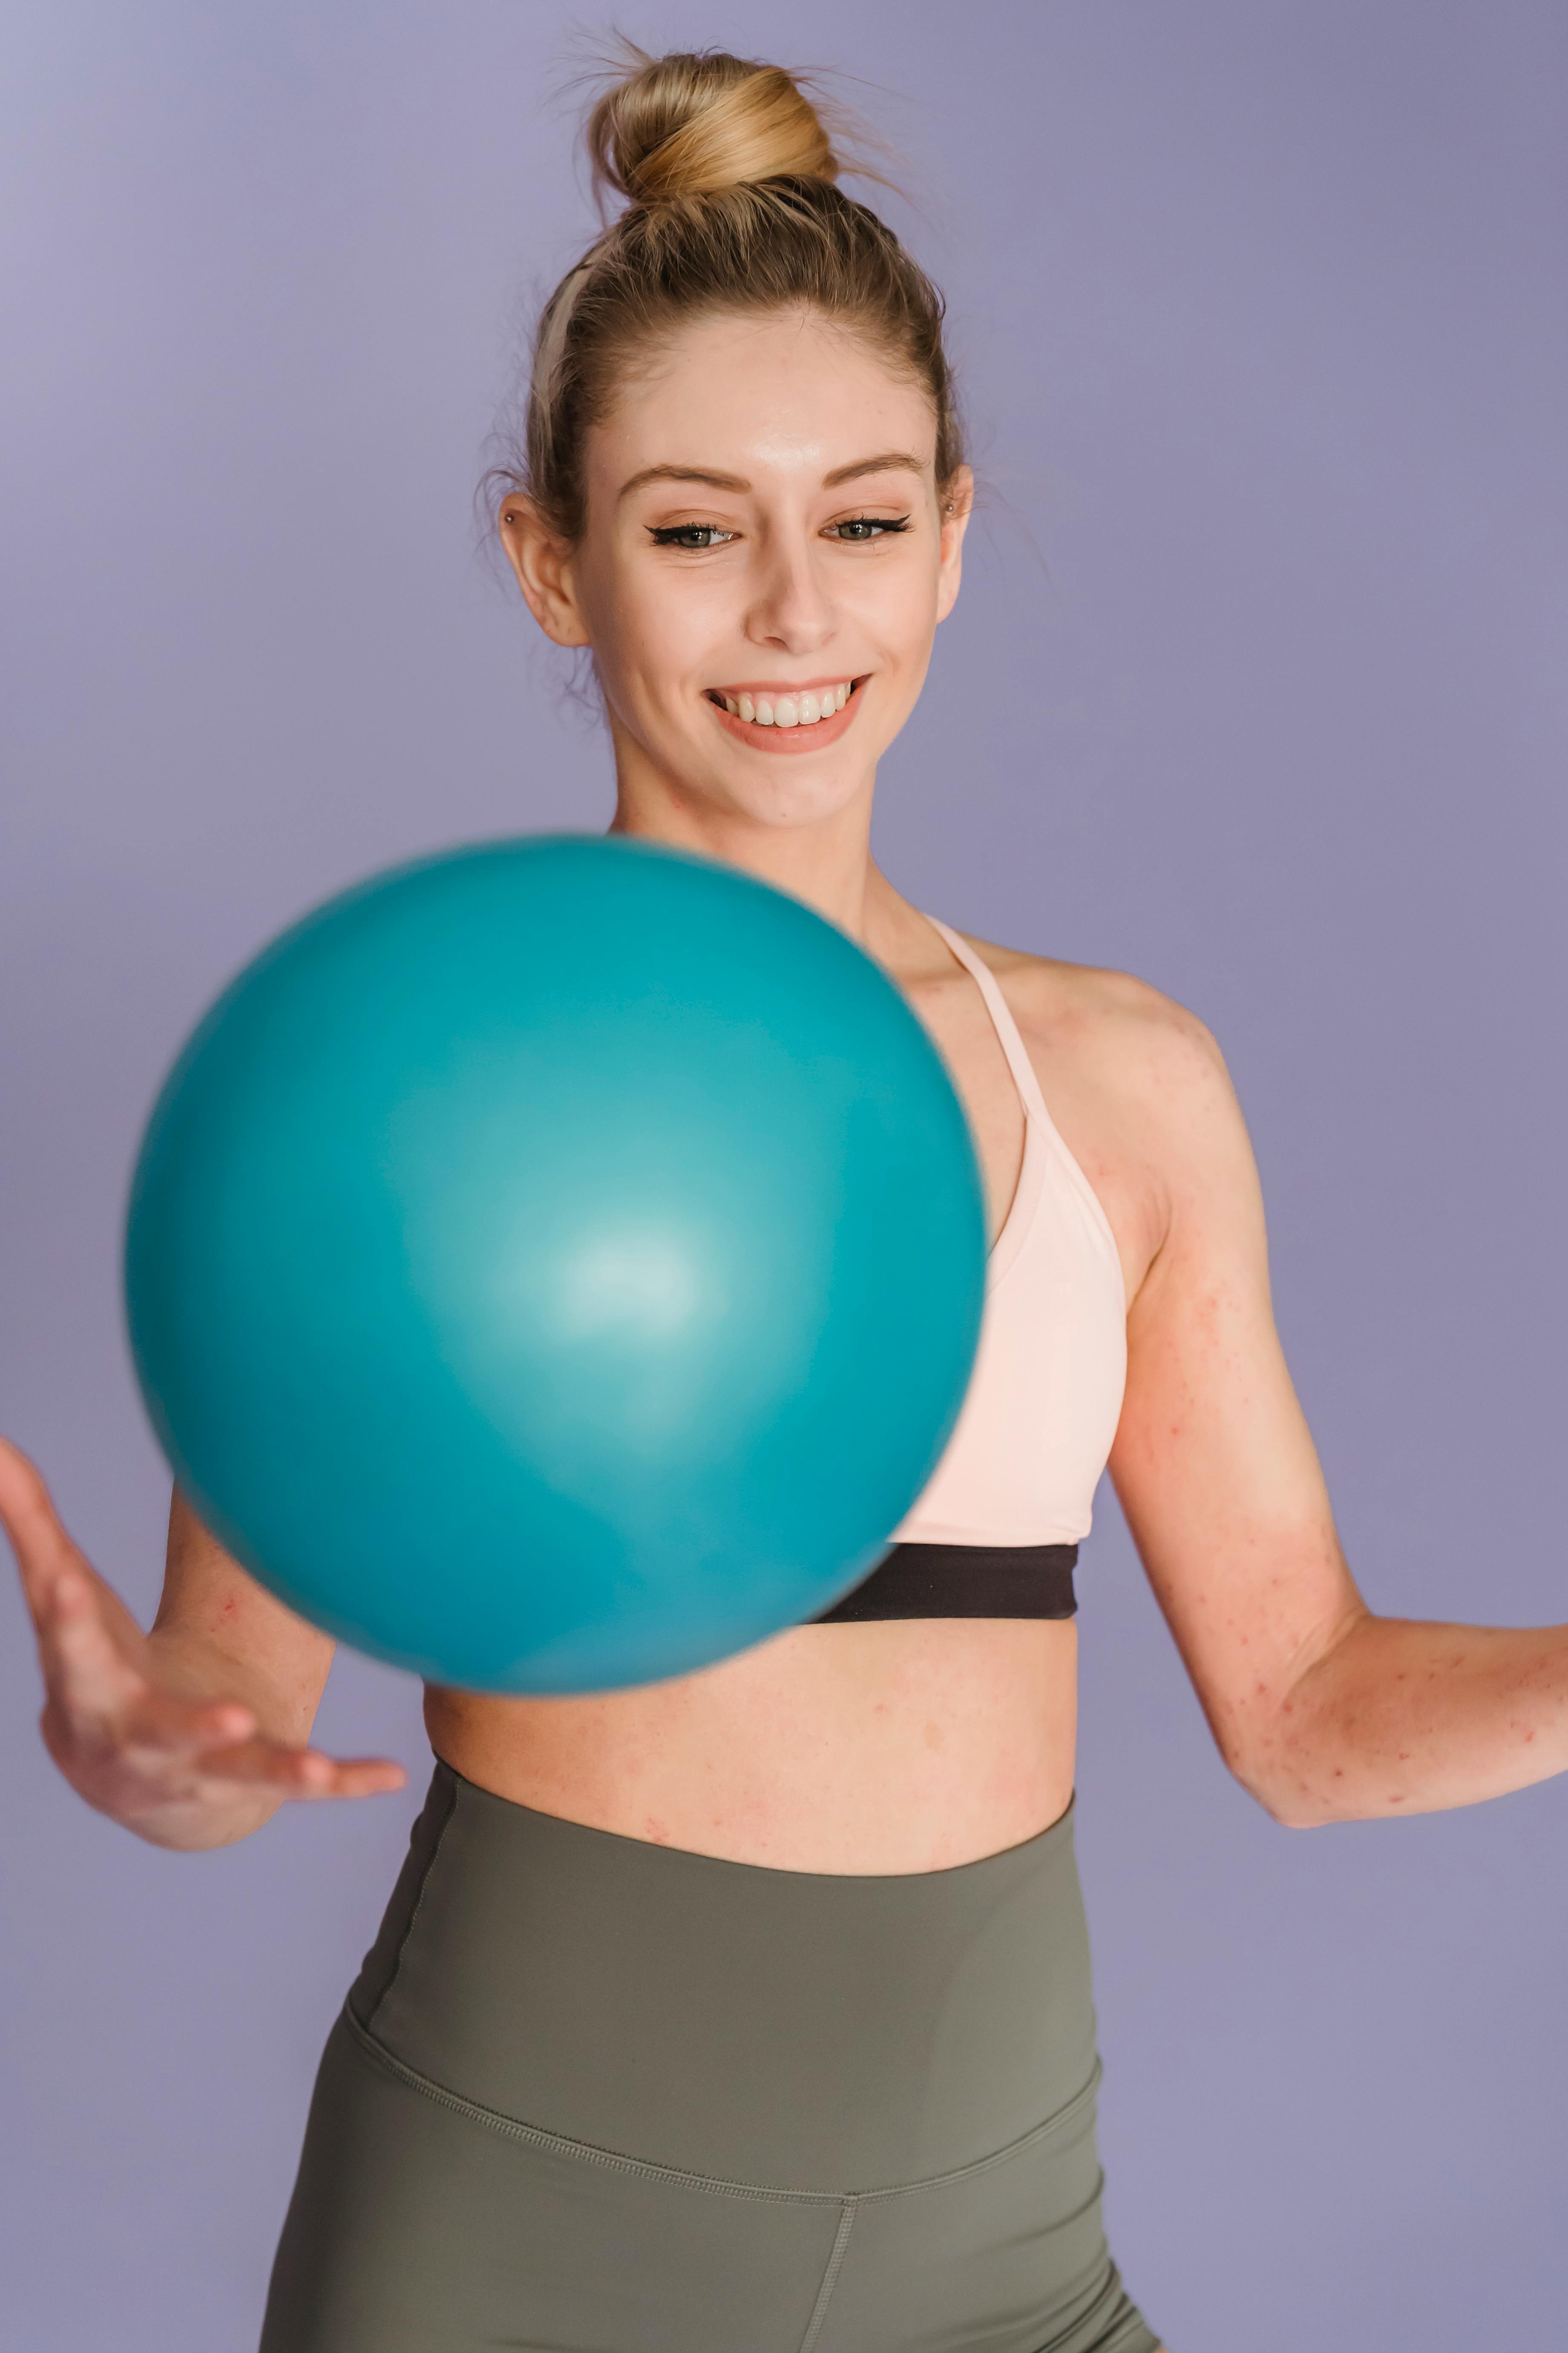
[[[261,2353],[1154,2353],[1100,2228],[1072,1814],[769,1871],[435,1767]]]

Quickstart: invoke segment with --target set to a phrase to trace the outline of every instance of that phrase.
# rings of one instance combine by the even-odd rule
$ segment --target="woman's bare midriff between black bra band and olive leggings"
[[[776,1871],[945,1871],[1065,1814],[1070,1619],[790,1626],[696,1675],[583,1699],[425,1689],[480,1788]]]

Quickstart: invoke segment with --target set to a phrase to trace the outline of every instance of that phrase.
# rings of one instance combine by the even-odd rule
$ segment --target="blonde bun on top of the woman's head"
[[[759,179],[839,176],[816,106],[783,66],[726,49],[630,54],[635,71],[588,115],[597,186],[635,205],[677,205]]]

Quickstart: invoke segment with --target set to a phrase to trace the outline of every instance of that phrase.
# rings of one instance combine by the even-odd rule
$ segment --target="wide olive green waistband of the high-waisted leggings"
[[[498,2118],[792,2191],[976,2165],[1095,2075],[1072,1809],[947,1871],[776,1871],[437,1762],[348,2007]]]

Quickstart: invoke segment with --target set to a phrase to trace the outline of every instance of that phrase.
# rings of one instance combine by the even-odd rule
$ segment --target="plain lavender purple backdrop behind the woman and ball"
[[[477,560],[590,233],[571,16],[35,0],[7,26],[0,1426],[158,1593],[120,1212],[212,991],[390,859],[597,826],[602,736]],[[625,7],[776,54],[776,7]],[[1561,1574],[1561,0],[802,0],[945,282],[990,522],[879,854],[1218,1031],[1375,1607]],[[1105,1497],[1081,1859],[1112,2242],[1175,2353],[1556,2341],[1568,1791],[1312,1835],[1225,1777]],[[315,2054],[423,1781],[223,1854],[54,1777],[5,1609],[0,2334],[244,2353]]]

